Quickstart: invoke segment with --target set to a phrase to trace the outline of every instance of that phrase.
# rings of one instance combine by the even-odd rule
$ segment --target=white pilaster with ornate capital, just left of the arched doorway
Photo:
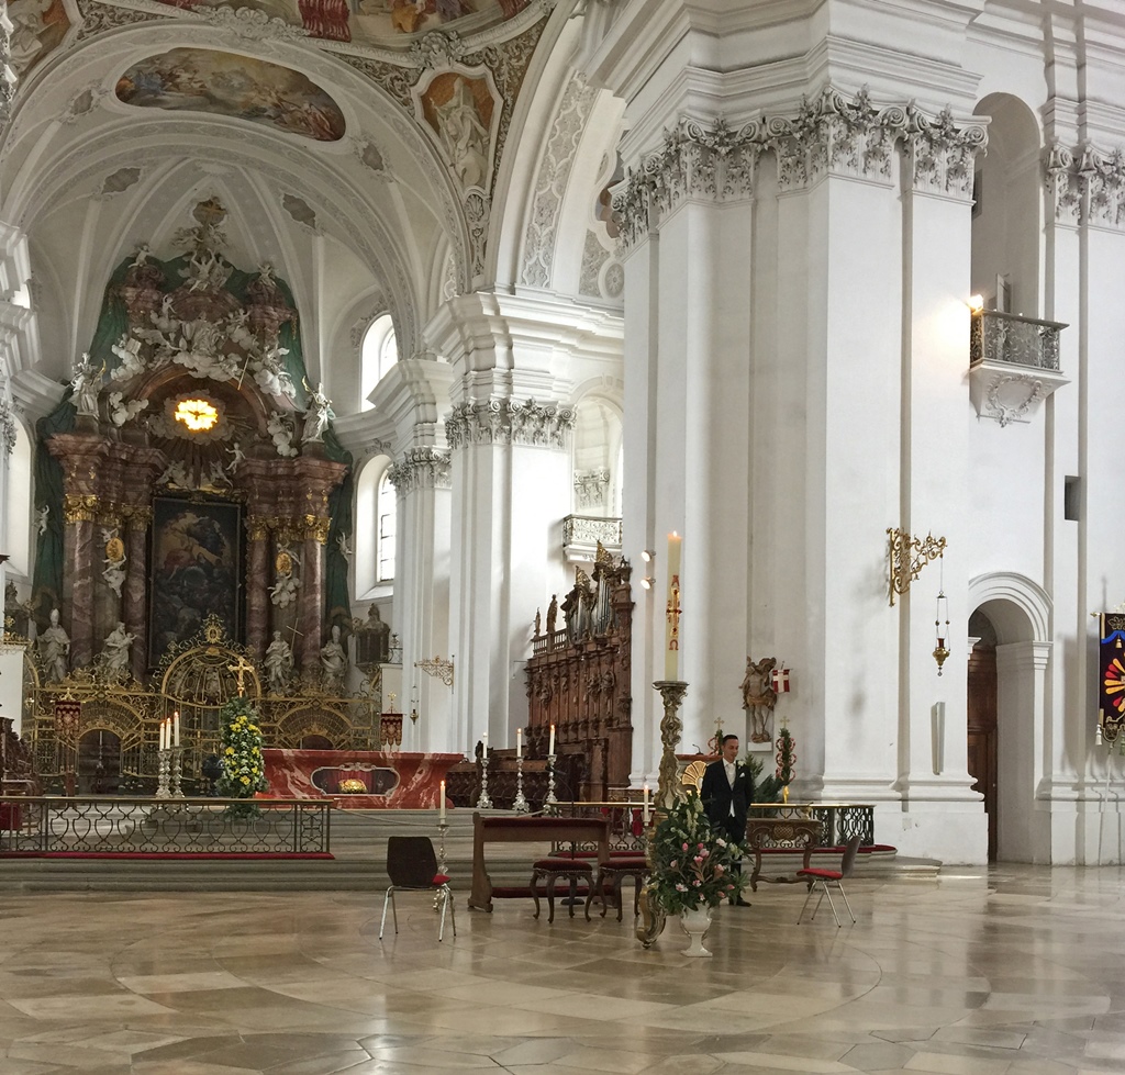
[[[973,157],[984,130],[945,112],[907,138],[900,525],[945,538],[940,561],[922,568],[898,605],[899,762],[903,842],[918,853],[984,861],[988,819],[968,771],[968,651],[972,480],[969,404],[969,287]],[[943,582],[944,579],[944,582]],[[948,596],[951,652],[933,657],[937,595]],[[944,621],[945,613],[942,613]],[[940,624],[943,634],[945,623]],[[940,715],[944,713],[944,717]],[[938,714],[935,728],[935,714]],[[965,814],[957,826],[948,813]]]

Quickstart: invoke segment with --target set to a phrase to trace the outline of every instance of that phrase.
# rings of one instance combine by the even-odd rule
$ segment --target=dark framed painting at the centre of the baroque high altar
[[[148,661],[156,665],[209,615],[241,639],[242,507],[222,500],[153,499]]]

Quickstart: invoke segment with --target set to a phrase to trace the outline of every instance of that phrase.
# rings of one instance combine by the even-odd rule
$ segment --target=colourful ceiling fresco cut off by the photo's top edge
[[[18,0],[29,3],[36,0]],[[38,0],[44,2],[44,0]],[[61,2],[61,0],[55,0]],[[222,0],[160,0],[176,8],[226,7]],[[264,11],[325,40],[402,44],[403,37],[457,24],[461,36],[519,15],[531,0],[251,0],[230,7]]]

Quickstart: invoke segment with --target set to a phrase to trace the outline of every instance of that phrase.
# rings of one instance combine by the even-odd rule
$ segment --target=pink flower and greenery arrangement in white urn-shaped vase
[[[735,864],[745,853],[711,828],[694,792],[675,801],[652,834],[650,893],[668,914],[718,906],[745,882]]]

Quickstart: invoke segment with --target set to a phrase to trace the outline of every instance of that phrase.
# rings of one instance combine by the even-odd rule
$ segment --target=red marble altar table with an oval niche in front
[[[262,758],[266,794],[331,798],[341,810],[436,810],[441,782],[465,760],[464,755],[274,748],[264,749]]]

